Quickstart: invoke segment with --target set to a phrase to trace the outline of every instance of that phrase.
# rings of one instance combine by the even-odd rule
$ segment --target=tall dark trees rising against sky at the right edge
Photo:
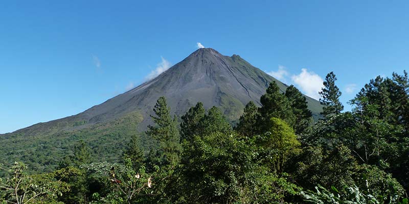
[[[354,112],[361,124],[358,133],[369,138],[366,146],[371,161],[369,164],[378,165],[380,168],[388,168],[405,189],[409,188],[408,148],[409,139],[409,79],[407,72],[402,75],[392,74],[392,79],[380,76],[366,84],[357,96],[351,100],[355,107]],[[362,127],[367,127],[363,131]],[[359,143],[358,143],[359,144]],[[358,146],[359,147],[359,146]],[[360,145],[362,147],[362,145]],[[355,150],[366,160],[363,150]],[[374,152],[374,153],[372,153]],[[386,163],[385,161],[388,161]],[[409,193],[409,192],[408,192]]]

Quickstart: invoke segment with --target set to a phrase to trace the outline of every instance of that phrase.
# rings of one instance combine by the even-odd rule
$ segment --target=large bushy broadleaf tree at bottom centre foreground
[[[184,154],[173,203],[278,203],[299,188],[259,161],[257,144],[237,133],[194,136]]]

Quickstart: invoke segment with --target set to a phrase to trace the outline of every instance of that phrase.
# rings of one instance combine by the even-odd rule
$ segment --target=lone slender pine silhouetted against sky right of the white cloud
[[[341,96],[341,92],[339,91],[338,87],[335,85],[336,77],[334,72],[330,72],[325,77],[324,81],[324,88],[320,91],[320,103],[324,105],[323,114],[325,117],[332,115],[332,114],[339,114],[341,111],[344,110],[344,106],[339,101],[339,96]]]

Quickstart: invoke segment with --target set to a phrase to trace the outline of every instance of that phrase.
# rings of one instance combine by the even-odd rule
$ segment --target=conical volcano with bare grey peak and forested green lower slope
[[[80,139],[100,160],[116,160],[130,136],[151,123],[149,115],[158,97],[166,96],[171,111],[179,117],[201,101],[207,109],[219,107],[235,122],[249,101],[260,104],[260,96],[272,81],[285,91],[286,84],[240,56],[200,48],[155,79],[82,113],[0,135],[0,142],[6,144],[0,147],[0,163],[29,161],[38,165],[36,170],[47,170],[42,169],[43,164],[53,168]],[[320,117],[319,101],[306,98],[314,118]]]

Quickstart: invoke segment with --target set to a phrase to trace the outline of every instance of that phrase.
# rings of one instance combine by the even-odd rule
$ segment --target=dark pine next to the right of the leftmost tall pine
[[[190,140],[193,135],[200,135],[202,132],[202,122],[206,115],[206,110],[203,104],[198,102],[196,106],[191,107],[189,111],[181,117],[180,123],[180,140]]]

